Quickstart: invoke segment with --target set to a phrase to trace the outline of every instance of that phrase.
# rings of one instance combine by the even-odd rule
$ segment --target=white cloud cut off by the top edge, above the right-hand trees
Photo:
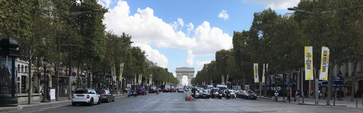
[[[257,2],[266,4],[266,8],[271,7],[271,9],[287,9],[290,7],[297,6],[300,0],[246,0],[249,2]]]

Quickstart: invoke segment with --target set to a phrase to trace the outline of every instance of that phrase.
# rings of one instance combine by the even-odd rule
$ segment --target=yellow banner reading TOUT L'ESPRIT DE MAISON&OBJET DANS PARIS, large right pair
[[[313,78],[313,46],[305,46],[305,80]]]

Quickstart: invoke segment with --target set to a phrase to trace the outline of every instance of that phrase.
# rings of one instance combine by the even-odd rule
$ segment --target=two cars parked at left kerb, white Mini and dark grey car
[[[101,104],[101,101],[110,102],[115,101],[115,96],[110,90],[94,90],[78,88],[72,95],[72,105],[86,104],[93,106],[93,104]]]

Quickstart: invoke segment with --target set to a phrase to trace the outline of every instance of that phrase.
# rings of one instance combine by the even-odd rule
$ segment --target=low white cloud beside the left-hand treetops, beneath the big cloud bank
[[[168,65],[168,59],[161,54],[158,50],[152,49],[150,45],[144,43],[133,43],[132,46],[139,46],[142,50],[145,51],[145,55],[149,55],[146,58],[150,58],[154,63],[158,63],[157,65],[163,68],[166,68]]]

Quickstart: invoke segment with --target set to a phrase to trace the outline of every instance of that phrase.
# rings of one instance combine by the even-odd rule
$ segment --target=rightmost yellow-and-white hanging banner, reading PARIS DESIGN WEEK
[[[328,47],[321,47],[320,80],[328,80],[329,52],[330,50]]]

